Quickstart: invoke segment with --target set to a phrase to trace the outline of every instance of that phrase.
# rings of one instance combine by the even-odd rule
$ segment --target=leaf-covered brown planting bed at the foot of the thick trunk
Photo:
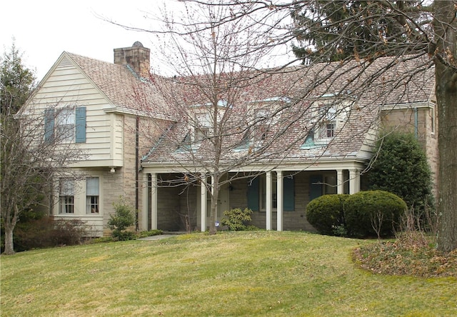
[[[457,278],[457,250],[441,253],[431,239],[404,235],[395,241],[369,243],[356,248],[353,258],[373,273],[423,278]]]

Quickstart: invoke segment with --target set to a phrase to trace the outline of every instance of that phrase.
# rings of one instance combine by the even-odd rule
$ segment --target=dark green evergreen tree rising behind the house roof
[[[421,49],[402,11],[418,1],[297,1],[292,10],[300,59],[374,59]],[[420,20],[421,13],[416,17]]]

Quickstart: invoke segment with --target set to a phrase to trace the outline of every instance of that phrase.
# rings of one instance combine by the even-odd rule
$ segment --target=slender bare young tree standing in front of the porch
[[[288,128],[280,121],[288,121],[292,112],[297,115],[297,111],[303,111],[303,106],[298,106],[303,101],[286,100],[288,92],[274,86],[272,74],[256,71],[273,49],[252,44],[268,41],[265,29],[246,29],[242,20],[219,25],[219,19],[229,14],[223,6],[186,10],[179,22],[165,19],[167,38],[162,55],[169,57],[175,76],[151,76],[151,82],[179,118],[175,124],[162,127],[160,146],[167,144],[169,159],[179,166],[176,171],[185,175],[167,185],[195,181],[205,184],[211,195],[210,233],[215,233],[219,189],[247,174],[223,176],[248,163],[273,158],[279,151],[284,153],[284,149],[272,147]],[[292,143],[285,144],[303,141],[307,132],[300,131]],[[160,151],[157,149],[148,159],[154,159]]]

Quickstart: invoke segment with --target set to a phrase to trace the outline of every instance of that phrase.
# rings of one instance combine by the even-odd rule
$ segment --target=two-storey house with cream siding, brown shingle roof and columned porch
[[[84,177],[56,180],[55,218],[79,218],[101,236],[123,196],[139,230],[204,231],[217,183],[216,221],[248,207],[259,228],[313,231],[306,204],[364,187],[381,126],[415,132],[436,170],[433,69],[401,78],[416,59],[374,82],[390,58],[219,74],[210,96],[204,75],[149,74],[149,55],[139,42],[114,49],[114,64],[64,52],[24,106],[45,114],[44,138],[66,125],[87,154],[70,167]]]

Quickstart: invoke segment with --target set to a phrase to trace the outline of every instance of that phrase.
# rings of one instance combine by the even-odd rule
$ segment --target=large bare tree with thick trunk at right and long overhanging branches
[[[295,100],[313,100],[313,97],[333,94],[338,96],[335,100],[339,99],[339,102],[348,99],[356,101],[358,109],[368,108],[364,104],[367,100],[378,106],[396,102],[412,103],[418,94],[425,94],[426,89],[421,89],[421,86],[430,84],[433,80],[430,74],[433,72],[440,156],[438,214],[441,216],[441,227],[438,248],[441,251],[457,248],[456,1],[184,2],[220,14],[213,15],[211,23],[201,19],[179,19],[167,21],[171,29],[164,31],[136,30],[172,34],[174,39],[188,36],[192,39],[191,44],[201,46],[201,43],[206,45],[212,41],[211,38],[201,43],[194,41],[193,37],[197,34],[216,34],[212,30],[237,24],[238,21],[244,22],[243,30],[262,29],[266,36],[251,38],[253,40],[248,41],[249,52],[268,51],[275,46],[288,45],[299,51],[298,59],[321,62],[308,71],[296,68],[300,74],[294,79],[291,79],[293,68],[279,67],[257,73],[287,74],[285,78],[289,83],[306,78],[307,84],[301,86],[300,93],[295,94]],[[221,8],[225,11],[221,11]],[[174,26],[184,28],[174,29]],[[241,51],[231,52],[239,57],[238,53]],[[188,59],[186,54],[180,57]],[[283,66],[292,62],[284,62]],[[208,66],[206,64],[202,71],[212,74]],[[351,115],[354,113],[351,112]],[[373,124],[377,122],[373,120]]]

